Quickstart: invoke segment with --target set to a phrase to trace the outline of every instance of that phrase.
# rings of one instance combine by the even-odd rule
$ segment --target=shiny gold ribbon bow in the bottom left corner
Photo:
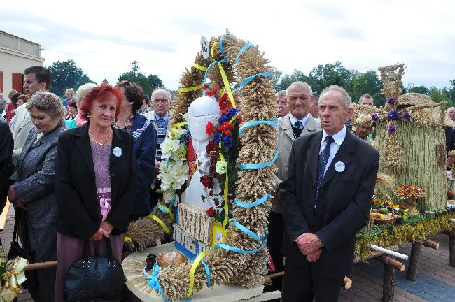
[[[16,257],[13,268],[9,271],[8,280],[1,287],[1,298],[6,302],[11,302],[22,292],[20,285],[27,280],[25,277],[25,268],[29,264],[24,258]]]

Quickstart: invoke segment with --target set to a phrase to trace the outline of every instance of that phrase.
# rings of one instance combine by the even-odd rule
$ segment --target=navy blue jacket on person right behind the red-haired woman
[[[157,133],[144,115],[134,113],[131,134],[137,163],[137,191],[132,215],[148,215],[151,212],[150,190],[155,178]]]

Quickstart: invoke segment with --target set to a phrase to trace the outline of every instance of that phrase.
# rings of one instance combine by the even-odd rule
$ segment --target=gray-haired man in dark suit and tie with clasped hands
[[[282,301],[337,301],[356,233],[367,224],[379,152],[346,131],[351,97],[321,92],[323,131],[297,138],[281,184],[286,268]]]

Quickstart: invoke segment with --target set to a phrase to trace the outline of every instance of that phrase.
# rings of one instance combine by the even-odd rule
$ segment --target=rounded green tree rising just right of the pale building
[[[49,90],[57,96],[63,96],[68,88],[77,90],[80,85],[88,82],[94,83],[80,67],[76,66],[76,62],[72,59],[56,61],[48,69],[52,76],[52,85]]]

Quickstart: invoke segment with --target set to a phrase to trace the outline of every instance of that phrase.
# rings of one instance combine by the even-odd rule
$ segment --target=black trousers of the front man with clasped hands
[[[286,261],[283,278],[283,302],[336,302],[343,277],[324,278],[313,264],[297,266]]]

